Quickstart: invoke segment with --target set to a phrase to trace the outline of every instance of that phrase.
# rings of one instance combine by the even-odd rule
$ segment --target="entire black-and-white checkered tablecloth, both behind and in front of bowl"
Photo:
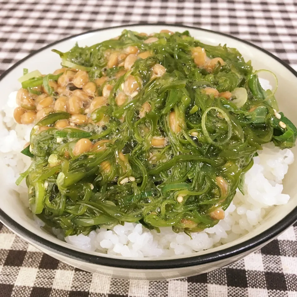
[[[0,0],[0,72],[53,41],[90,29],[175,23],[224,32],[297,69],[297,2]],[[171,281],[127,281],[75,269],[0,224],[0,297],[297,297],[297,225],[226,268]]]

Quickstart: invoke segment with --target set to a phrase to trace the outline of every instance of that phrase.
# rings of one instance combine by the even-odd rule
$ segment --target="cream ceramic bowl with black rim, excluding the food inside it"
[[[212,45],[226,43],[229,47],[237,48],[243,54],[246,61],[252,60],[254,69],[268,69],[277,74],[279,87],[276,97],[280,110],[288,118],[293,120],[296,125],[296,71],[264,49],[260,49],[246,41],[222,33],[174,25],[127,25],[99,29],[52,43],[19,61],[1,76],[1,104],[5,104],[9,93],[20,88],[17,78],[22,73],[23,68],[39,69],[42,73],[51,73],[59,67],[60,58],[57,54],[51,52],[52,48],[65,52],[75,42],[78,42],[80,46],[93,45],[94,43],[120,35],[124,28],[146,33],[159,32],[165,28],[179,32],[189,30],[193,37],[204,43]],[[293,148],[293,152],[297,153],[297,150]],[[284,179],[284,192],[291,196],[288,204],[275,207],[252,232],[236,241],[189,256],[133,260],[95,252],[86,253],[66,242],[60,241],[45,233],[36,225],[32,219],[32,214],[19,200],[18,195],[12,192],[2,182],[5,168],[0,172],[0,185],[2,189],[0,220],[17,235],[36,248],[39,248],[42,252],[80,269],[126,279],[157,280],[187,277],[204,273],[239,260],[243,256],[262,247],[291,226],[297,219],[296,171],[297,162],[290,166],[289,172]]]

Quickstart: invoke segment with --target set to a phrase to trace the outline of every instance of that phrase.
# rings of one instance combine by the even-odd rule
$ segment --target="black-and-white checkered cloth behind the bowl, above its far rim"
[[[0,8],[0,71],[63,37],[106,26],[157,22],[234,35],[297,69],[296,0],[0,0]]]

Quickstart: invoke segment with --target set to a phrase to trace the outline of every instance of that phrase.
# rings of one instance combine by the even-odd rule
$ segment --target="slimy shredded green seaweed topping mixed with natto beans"
[[[22,151],[32,157],[32,164],[18,183],[26,179],[32,211],[47,225],[62,228],[65,235],[88,234],[97,227],[111,228],[123,222],[140,222],[157,232],[159,227],[172,226],[174,232],[189,235],[214,226],[218,221],[209,213],[218,207],[226,209],[237,187],[243,192],[244,174],[261,144],[273,141],[281,148],[295,145],[296,127],[282,113],[281,119],[275,117],[275,98],[271,91],[263,90],[251,62],[245,62],[238,50],[205,45],[188,32],[156,33],[155,37],[158,41],[146,44],[147,37],[124,30],[117,40],[90,47],[76,44],[66,53],[54,50],[62,65],[75,64],[77,69],[88,71],[90,80],[103,72],[114,79],[120,69],[106,68],[106,50],[134,45],[152,53],[138,59],[131,69],[131,75],[142,81],[136,97],[123,106],[115,104],[123,76],[114,85],[109,106],[91,114],[94,123],[109,118],[104,130],[98,131],[95,124],[56,129],[54,123],[70,118],[68,113],[50,114],[37,123],[48,126],[47,130],[32,129],[32,153],[29,147]],[[197,67],[191,52],[196,46],[204,47],[209,58],[221,57],[226,65],[218,64],[212,73]],[[156,63],[166,68],[166,74],[151,79]],[[58,77],[32,78],[22,85],[32,88],[43,84],[50,94],[49,80]],[[219,92],[243,87],[248,100],[238,108],[232,99],[205,94],[205,87]],[[140,118],[139,110],[146,101],[151,110]],[[170,126],[172,111],[178,114],[179,133]],[[203,117],[205,112],[207,117]],[[124,120],[120,120],[122,116]],[[154,136],[166,137],[167,145],[152,147]],[[108,142],[105,149],[74,156],[73,147],[81,138]],[[226,182],[226,193],[217,177]]]

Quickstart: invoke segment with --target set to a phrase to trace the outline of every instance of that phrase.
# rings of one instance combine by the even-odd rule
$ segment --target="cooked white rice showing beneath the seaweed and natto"
[[[23,181],[16,186],[14,182],[31,163],[30,158],[20,153],[29,141],[31,127],[15,123],[15,96],[16,92],[11,93],[1,112],[0,159],[5,164],[6,182],[28,204],[26,184]],[[286,204],[290,199],[289,195],[282,194],[282,179],[288,165],[294,161],[291,150],[280,150],[273,143],[268,143],[258,153],[245,176],[246,195],[237,191],[225,212],[225,219],[212,228],[193,233],[192,240],[184,233],[174,233],[171,227],[160,228],[161,233],[158,234],[136,223],[117,225],[112,230],[97,229],[88,236],[67,236],[65,240],[86,251],[139,258],[187,255],[233,241],[252,230],[273,209],[273,205]],[[37,223],[42,225],[40,221]],[[63,239],[61,230],[54,229],[53,232]]]

